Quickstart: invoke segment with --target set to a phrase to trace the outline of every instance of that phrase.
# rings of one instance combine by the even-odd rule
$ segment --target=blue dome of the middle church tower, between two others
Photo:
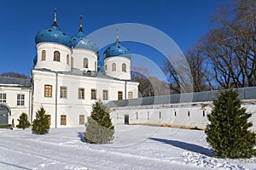
[[[84,31],[82,28],[79,29],[79,32],[76,36],[71,38],[71,43],[73,48],[84,48],[90,49],[97,52],[98,48],[96,47],[95,42],[91,42],[90,39],[85,37]]]

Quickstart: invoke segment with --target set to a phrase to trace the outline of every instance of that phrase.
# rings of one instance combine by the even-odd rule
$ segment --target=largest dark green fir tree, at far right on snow
[[[237,91],[229,89],[221,91],[213,100],[206,133],[214,156],[250,158],[256,155],[256,136],[248,130],[253,123],[247,121],[252,114],[241,108],[238,95]]]

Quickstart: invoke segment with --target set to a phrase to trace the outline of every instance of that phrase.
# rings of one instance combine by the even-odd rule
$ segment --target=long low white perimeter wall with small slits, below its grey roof
[[[247,108],[247,112],[253,113],[249,121],[253,122],[251,129],[256,131],[256,99],[243,102],[242,106]],[[113,124],[124,124],[125,115],[129,115],[130,124],[205,128],[208,123],[207,114],[211,111],[212,102],[200,102],[112,107],[110,115]]]

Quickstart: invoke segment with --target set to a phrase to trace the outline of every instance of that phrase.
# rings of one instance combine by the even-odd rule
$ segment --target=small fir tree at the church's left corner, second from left
[[[32,133],[45,134],[49,132],[49,119],[45,115],[44,107],[42,106],[36,114],[36,119],[32,122]]]

